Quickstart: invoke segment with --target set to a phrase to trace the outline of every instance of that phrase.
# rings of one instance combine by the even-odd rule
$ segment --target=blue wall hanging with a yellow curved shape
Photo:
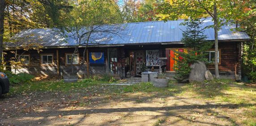
[[[89,62],[91,64],[104,64],[104,53],[103,52],[90,52]]]

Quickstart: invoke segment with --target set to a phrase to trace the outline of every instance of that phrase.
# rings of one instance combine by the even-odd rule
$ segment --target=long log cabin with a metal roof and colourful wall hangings
[[[86,52],[86,62],[78,72],[78,76],[111,74],[117,78],[139,75],[141,64],[148,68],[159,70],[159,58],[167,57],[166,76],[174,76],[174,51],[183,51],[182,31],[184,20],[177,21],[150,21],[127,23],[127,35],[115,36],[108,44],[90,45]],[[211,18],[204,20],[203,26],[213,25]],[[218,31],[219,51],[218,63],[221,78],[241,80],[241,45],[250,38],[243,31],[231,30],[235,25],[223,25]],[[62,71],[70,68],[70,57],[74,51],[71,40],[58,36],[52,29],[26,29],[21,31],[20,37],[34,34],[26,41],[39,42],[43,51],[29,50],[23,54],[26,59],[17,72],[26,72],[36,76],[61,76]],[[208,41],[214,41],[214,30],[205,29]],[[39,40],[41,39],[41,40]],[[6,42],[8,61],[13,57],[8,48],[12,47]],[[75,67],[80,64],[83,46],[74,58]],[[214,46],[209,53],[209,62],[214,61]],[[214,74],[214,64],[209,63],[208,69]],[[13,68],[10,68],[12,71]]]

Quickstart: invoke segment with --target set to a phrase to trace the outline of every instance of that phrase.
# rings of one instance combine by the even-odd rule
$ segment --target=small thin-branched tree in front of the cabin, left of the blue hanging
[[[85,46],[83,49],[85,52],[87,46],[102,42],[106,44],[113,34],[120,34],[125,26],[119,25],[122,23],[118,13],[119,8],[113,2],[112,0],[79,0],[75,2],[72,11],[61,18],[58,29],[55,30],[64,38],[76,40],[73,54],[79,52],[79,46]],[[76,74],[85,63],[85,55],[78,68],[73,67],[73,58],[74,55],[71,58],[71,71]]]

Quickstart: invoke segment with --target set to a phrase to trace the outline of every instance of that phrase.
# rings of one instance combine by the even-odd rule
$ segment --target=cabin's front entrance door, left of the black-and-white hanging
[[[141,73],[141,65],[145,63],[145,50],[130,51],[131,76]]]

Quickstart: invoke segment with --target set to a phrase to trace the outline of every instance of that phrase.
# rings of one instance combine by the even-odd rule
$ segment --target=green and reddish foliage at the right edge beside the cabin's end
[[[255,0],[248,0],[244,6],[246,11],[241,13],[238,18],[241,25],[238,30],[245,31],[251,40],[243,42],[242,76],[248,76],[248,79],[252,80],[251,72],[256,72],[256,2]]]

